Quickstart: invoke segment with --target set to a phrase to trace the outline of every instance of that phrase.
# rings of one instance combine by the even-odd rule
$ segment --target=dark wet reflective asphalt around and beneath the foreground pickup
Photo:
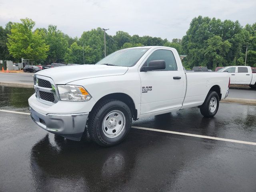
[[[28,112],[32,88],[0,86],[0,109]],[[220,103],[133,126],[256,142],[256,106]],[[54,136],[29,115],[0,111],[0,191],[256,191],[256,146],[132,128],[103,148]]]

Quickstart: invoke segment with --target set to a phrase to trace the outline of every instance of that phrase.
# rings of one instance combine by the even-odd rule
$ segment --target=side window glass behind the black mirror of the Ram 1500
[[[178,70],[176,60],[174,58],[174,55],[172,51],[170,50],[156,50],[154,51],[149,58],[146,60],[143,66],[148,66],[148,62],[154,61],[154,60],[164,60],[166,67],[165,71],[176,71]]]

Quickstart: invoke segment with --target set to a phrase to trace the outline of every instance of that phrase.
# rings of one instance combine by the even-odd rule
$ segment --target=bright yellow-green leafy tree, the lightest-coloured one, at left
[[[32,32],[35,22],[29,18],[21,19],[21,22],[11,25],[7,42],[10,54],[16,59],[26,58],[31,62],[45,59],[49,46],[38,30]]]

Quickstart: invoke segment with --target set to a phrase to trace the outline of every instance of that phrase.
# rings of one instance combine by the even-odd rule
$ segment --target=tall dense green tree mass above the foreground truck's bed
[[[214,70],[218,66],[242,65],[245,47],[256,50],[256,24],[246,25],[238,21],[198,16],[192,19],[186,36],[182,38],[183,54],[187,54],[188,67],[207,66]],[[177,49],[177,48],[176,48]],[[178,49],[177,49],[178,50]],[[250,52],[250,56],[253,56]]]

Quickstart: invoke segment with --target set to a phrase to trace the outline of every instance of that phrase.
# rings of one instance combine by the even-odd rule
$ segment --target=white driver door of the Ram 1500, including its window
[[[180,108],[184,100],[185,74],[177,67],[171,50],[153,50],[142,66],[154,60],[164,60],[164,70],[140,72],[141,79],[141,116],[161,114],[163,111]],[[141,67],[142,67],[141,66]]]

